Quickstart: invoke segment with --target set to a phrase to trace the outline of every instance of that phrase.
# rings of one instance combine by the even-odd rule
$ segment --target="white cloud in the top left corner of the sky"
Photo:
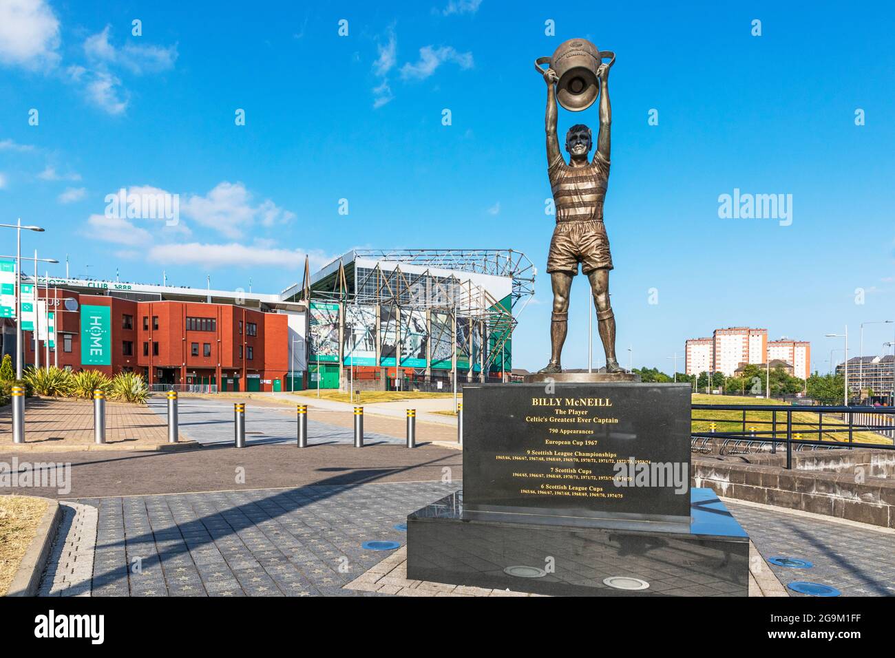
[[[58,47],[59,21],[44,0],[0,2],[0,63],[51,68]]]

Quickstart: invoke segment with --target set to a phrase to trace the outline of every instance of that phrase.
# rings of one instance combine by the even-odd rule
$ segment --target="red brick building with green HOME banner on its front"
[[[39,289],[43,299],[45,291]],[[55,295],[55,299],[54,299]],[[50,289],[58,365],[108,375],[139,372],[153,384],[215,384],[220,390],[285,389],[287,316],[227,303],[132,301]],[[77,310],[66,311],[64,299]],[[81,363],[81,307],[108,306],[110,365]],[[73,305],[73,304],[72,304]],[[23,337],[26,363],[35,363],[33,334]],[[40,363],[46,361],[41,343]],[[49,363],[56,363],[51,350]]]

